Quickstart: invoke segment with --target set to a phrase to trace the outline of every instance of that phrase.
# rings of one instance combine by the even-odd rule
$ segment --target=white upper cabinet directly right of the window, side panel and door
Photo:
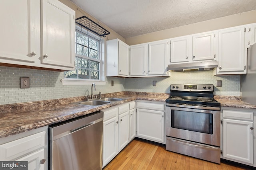
[[[106,41],[106,76],[129,76],[129,45],[120,39]]]

